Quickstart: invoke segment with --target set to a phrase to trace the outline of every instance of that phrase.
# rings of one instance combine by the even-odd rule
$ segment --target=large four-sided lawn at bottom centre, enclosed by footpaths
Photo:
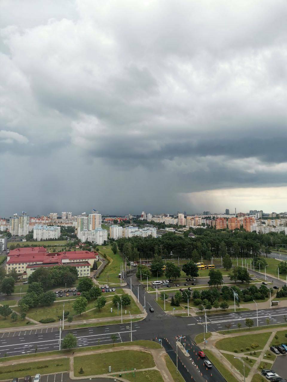
[[[150,353],[135,350],[114,351],[113,353],[91,354],[86,356],[74,357],[75,377],[93,376],[96,374],[107,373],[109,366],[112,372],[145,369],[155,366],[153,356]],[[80,368],[84,373],[80,374]]]

